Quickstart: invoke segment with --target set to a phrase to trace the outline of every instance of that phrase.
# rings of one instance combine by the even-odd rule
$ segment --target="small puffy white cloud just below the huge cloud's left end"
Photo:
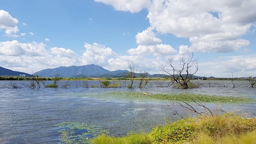
[[[156,45],[160,44],[162,41],[156,37],[155,33],[152,31],[151,27],[148,27],[142,32],[138,32],[136,37],[136,43],[139,45]]]

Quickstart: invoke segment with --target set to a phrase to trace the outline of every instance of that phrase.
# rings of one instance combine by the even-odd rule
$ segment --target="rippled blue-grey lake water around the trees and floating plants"
[[[121,81],[124,84],[124,81]],[[134,132],[149,132],[152,127],[165,122],[171,117],[177,120],[163,101],[154,100],[111,100],[83,97],[84,94],[103,93],[106,91],[141,91],[151,93],[200,93],[224,96],[246,96],[256,98],[256,88],[250,88],[247,81],[235,81],[236,88],[231,88],[230,81],[215,81],[215,87],[203,86],[195,89],[160,88],[159,82],[150,81],[147,88],[83,88],[83,81],[70,81],[68,88],[31,89],[25,86],[29,81],[19,82],[21,89],[7,89],[10,81],[0,81],[0,139],[1,143],[59,143],[61,130],[54,127],[61,122],[84,122],[110,127],[110,135],[126,135]],[[52,83],[51,81],[47,82]],[[90,85],[98,85],[90,81]],[[166,84],[167,81],[161,82]],[[59,81],[58,85],[65,84]],[[128,84],[128,81],[126,81]],[[138,85],[138,81],[135,82]],[[225,87],[223,87],[225,85]],[[210,108],[216,105],[209,104]],[[256,104],[223,105],[225,110],[255,116]],[[187,111],[177,108],[181,114]]]

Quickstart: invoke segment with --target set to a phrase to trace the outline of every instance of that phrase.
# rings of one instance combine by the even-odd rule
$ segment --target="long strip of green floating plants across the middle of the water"
[[[165,101],[186,101],[192,102],[202,101],[205,103],[219,103],[219,104],[247,104],[255,103],[255,99],[248,97],[233,97],[233,96],[216,96],[193,93],[141,93],[141,92],[106,92],[100,94],[87,94],[87,97],[106,98],[106,99],[128,99],[128,100],[147,100],[157,99]]]

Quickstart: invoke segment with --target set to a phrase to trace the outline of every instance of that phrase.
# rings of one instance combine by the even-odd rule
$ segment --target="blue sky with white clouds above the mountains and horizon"
[[[32,74],[135,63],[154,74],[193,52],[195,75],[256,76],[255,8],[256,0],[1,0],[0,66]]]

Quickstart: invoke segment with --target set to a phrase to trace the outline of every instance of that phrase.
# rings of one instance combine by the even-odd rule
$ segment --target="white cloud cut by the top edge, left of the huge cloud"
[[[131,13],[139,12],[146,8],[151,0],[95,0],[106,5],[112,5],[115,10],[130,11]]]

